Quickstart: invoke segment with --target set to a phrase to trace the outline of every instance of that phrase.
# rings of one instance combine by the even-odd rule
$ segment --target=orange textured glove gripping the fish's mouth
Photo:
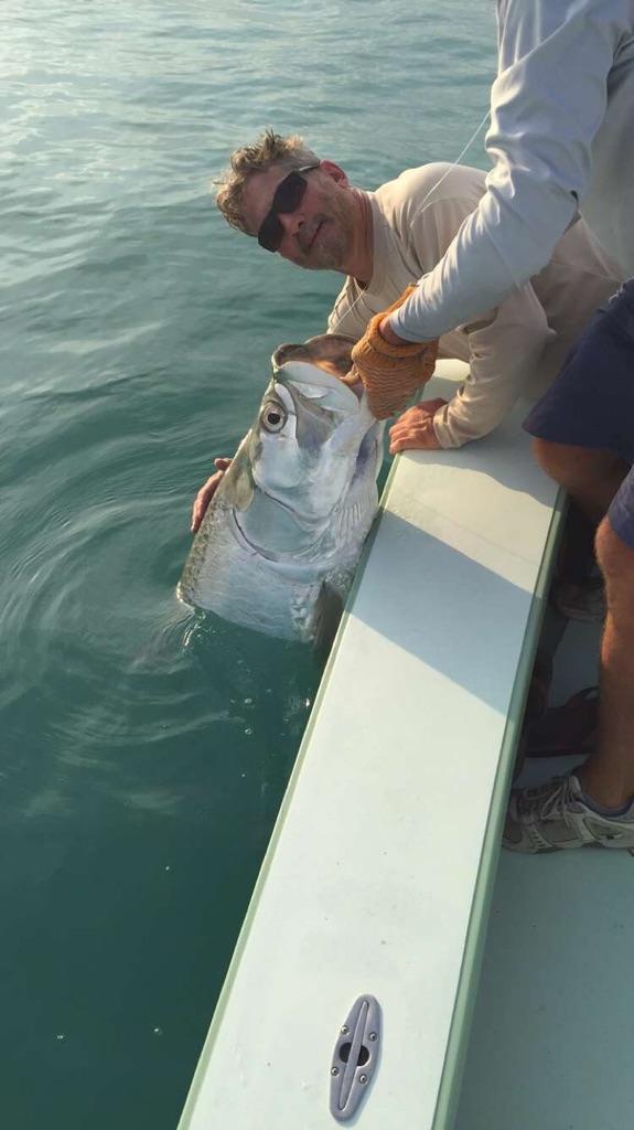
[[[370,411],[379,420],[403,408],[412,393],[429,381],[435,366],[438,338],[393,346],[379,333],[384,318],[397,310],[414,289],[408,286],[397,302],[382,314],[376,314],[352,350],[353,367],[347,383],[359,379],[363,382]]]

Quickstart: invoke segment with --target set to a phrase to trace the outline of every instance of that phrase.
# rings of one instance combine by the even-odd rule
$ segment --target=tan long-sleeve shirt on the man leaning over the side
[[[433,270],[485,191],[485,175],[464,165],[423,165],[367,193],[372,211],[373,271],[367,287],[349,278],[328,332],[358,340],[411,282]],[[491,432],[520,393],[538,395],[557,374],[595,311],[622,276],[579,219],[548,266],[495,310],[443,333],[440,357],[458,357],[469,375],[433,419],[442,447]]]

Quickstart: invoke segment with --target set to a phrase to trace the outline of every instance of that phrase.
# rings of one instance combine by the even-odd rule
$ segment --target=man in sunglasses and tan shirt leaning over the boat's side
[[[266,133],[232,155],[218,205],[232,226],[290,262],[346,275],[328,331],[356,340],[375,314],[433,270],[484,191],[479,171],[434,164],[363,192],[300,138]],[[520,392],[535,394],[552,380],[618,281],[585,225],[573,225],[539,277],[441,336],[439,356],[468,362],[468,379],[449,403],[423,401],[405,412],[391,428],[390,451],[458,447],[491,432]],[[196,499],[194,529],[217,483],[212,476]]]

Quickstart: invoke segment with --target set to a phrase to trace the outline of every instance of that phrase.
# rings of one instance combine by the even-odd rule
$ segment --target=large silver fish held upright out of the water
[[[324,334],[275,350],[185,564],[186,603],[282,638],[332,640],[377,511],[385,429],[341,381],[350,348]]]

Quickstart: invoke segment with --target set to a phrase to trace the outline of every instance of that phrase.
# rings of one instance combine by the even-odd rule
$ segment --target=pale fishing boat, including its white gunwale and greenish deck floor
[[[465,373],[441,362],[430,395]],[[632,857],[501,858],[565,513],[526,409],[391,468],[179,1130],[626,1124],[592,1050],[620,1041],[614,1085]],[[557,694],[596,668],[574,628]]]

